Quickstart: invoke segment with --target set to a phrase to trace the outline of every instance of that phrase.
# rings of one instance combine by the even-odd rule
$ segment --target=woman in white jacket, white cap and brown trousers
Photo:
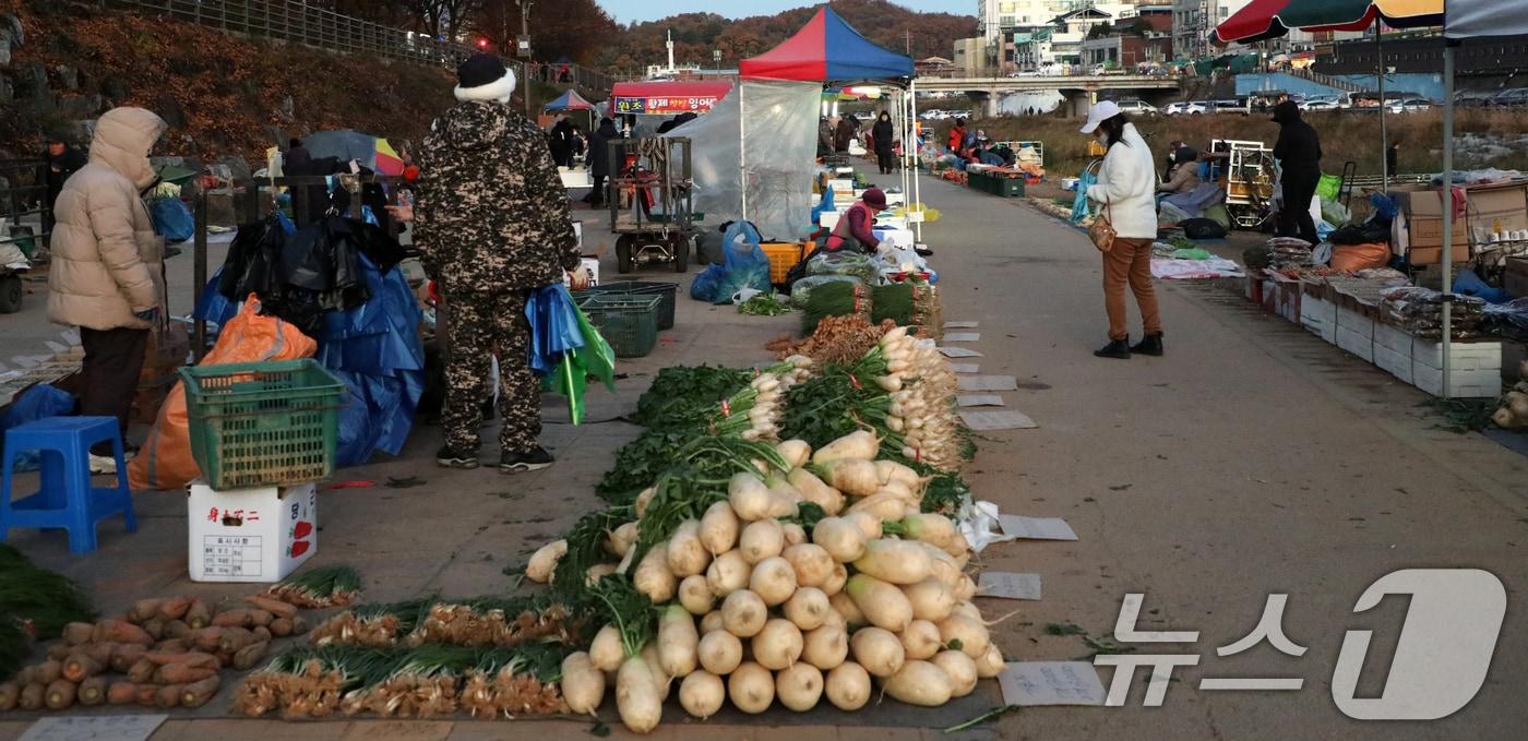
[[[1103,306],[1109,313],[1109,344],[1099,358],[1128,361],[1131,353],[1161,356],[1161,316],[1151,278],[1151,244],[1157,238],[1157,167],[1135,124],[1112,101],[1093,107],[1082,133],[1097,136],[1109,148],[1099,183],[1088,199],[1114,225],[1114,248],[1103,254]],[[1125,284],[1140,304],[1144,338],[1131,345],[1125,313]]]

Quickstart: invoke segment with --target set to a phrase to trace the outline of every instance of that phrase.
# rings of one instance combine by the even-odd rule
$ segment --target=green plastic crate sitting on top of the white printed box
[[[191,455],[212,489],[318,481],[335,471],[345,385],[316,361],[180,368]]]

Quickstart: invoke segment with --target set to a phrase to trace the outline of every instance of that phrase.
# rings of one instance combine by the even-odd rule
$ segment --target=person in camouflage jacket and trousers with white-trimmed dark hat
[[[552,464],[541,432],[541,385],[529,367],[532,290],[579,269],[567,191],[545,136],[507,102],[515,75],[478,53],[458,67],[457,105],[431,125],[416,153],[414,244],[449,310],[446,327],[446,445],[442,466],[477,468],[490,362],[498,358],[500,468]]]

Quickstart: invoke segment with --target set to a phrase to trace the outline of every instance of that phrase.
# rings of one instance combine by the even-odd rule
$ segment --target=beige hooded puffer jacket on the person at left
[[[154,328],[133,316],[165,306],[163,238],[139,193],[154,182],[148,151],[165,122],[144,108],[112,108],[96,122],[90,162],[53,203],[47,318],[58,324]]]

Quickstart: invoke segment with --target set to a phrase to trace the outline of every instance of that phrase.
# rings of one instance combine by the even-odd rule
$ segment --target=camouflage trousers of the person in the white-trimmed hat
[[[492,394],[489,376],[498,356],[498,413],[504,428],[498,442],[504,452],[526,452],[541,434],[541,382],[530,371],[530,321],[526,319],[529,290],[494,293],[454,292],[445,296],[451,312],[446,327],[446,405],[440,426],[446,445],[457,452],[475,452],[481,445],[484,394]]]

